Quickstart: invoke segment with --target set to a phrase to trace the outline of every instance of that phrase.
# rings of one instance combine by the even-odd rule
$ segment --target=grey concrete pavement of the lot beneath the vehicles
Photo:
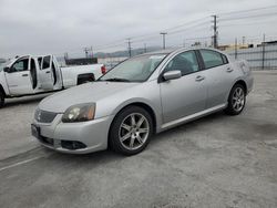
[[[255,72],[239,116],[156,135],[140,155],[63,155],[30,135],[42,97],[0,110],[0,207],[277,207],[277,71]]]

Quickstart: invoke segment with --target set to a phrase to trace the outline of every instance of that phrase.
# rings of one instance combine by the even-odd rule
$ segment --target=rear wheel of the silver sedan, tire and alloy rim
[[[228,115],[238,115],[243,112],[246,103],[246,92],[242,84],[235,84],[230,90],[228,106],[224,111]]]

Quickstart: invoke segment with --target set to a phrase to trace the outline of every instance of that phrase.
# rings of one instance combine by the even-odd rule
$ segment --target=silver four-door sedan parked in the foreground
[[[245,61],[212,49],[179,49],[129,59],[93,83],[44,98],[31,125],[49,148],[134,155],[153,134],[217,111],[238,115],[253,76]]]

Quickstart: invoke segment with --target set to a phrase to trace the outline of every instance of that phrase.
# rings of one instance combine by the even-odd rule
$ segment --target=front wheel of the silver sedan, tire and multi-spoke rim
[[[123,155],[141,153],[153,135],[153,121],[147,111],[129,106],[116,115],[111,126],[110,147]]]

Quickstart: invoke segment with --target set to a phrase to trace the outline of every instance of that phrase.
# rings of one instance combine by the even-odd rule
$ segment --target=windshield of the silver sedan
[[[140,55],[126,60],[109,71],[99,81],[109,82],[144,82],[166,54]]]

